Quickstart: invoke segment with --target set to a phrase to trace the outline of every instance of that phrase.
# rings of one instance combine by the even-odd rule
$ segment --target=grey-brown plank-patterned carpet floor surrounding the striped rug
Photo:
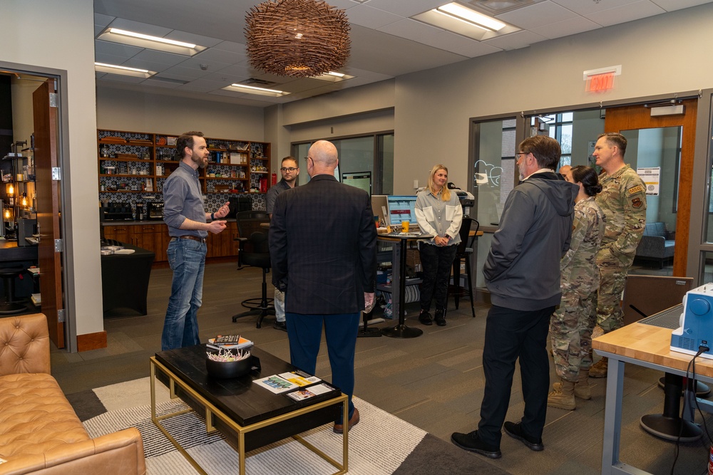
[[[160,350],[163,315],[170,294],[170,270],[154,269],[151,276],[148,315],[125,315],[105,318],[108,348],[84,353],[66,353],[53,349],[52,373],[66,394],[83,392],[115,382],[148,375],[148,357]],[[268,276],[268,279],[270,276]],[[213,263],[206,267],[203,305],[199,313],[200,335],[207,340],[217,334],[237,332],[262,348],[289,360],[287,333],[272,328],[272,317],[262,328],[255,328],[254,316],[231,322],[240,313],[240,302],[260,295],[262,273],[255,268],[236,271],[235,263]],[[272,289],[271,286],[269,286]],[[476,304],[477,305],[477,304]],[[470,432],[476,428],[483,396],[482,350],[485,315],[488,306],[476,307],[471,318],[467,301],[456,310],[453,299],[448,303],[446,327],[424,327],[416,315],[417,304],[406,306],[406,323],[422,328],[424,335],[413,339],[359,338],[356,348],[356,388],[361,399],[406,422],[429,432],[430,437],[449,442],[451,432]],[[379,316],[379,315],[376,315]],[[383,328],[393,320],[379,323]],[[554,377],[551,368],[551,377]],[[329,380],[326,349],[317,362],[317,375]],[[627,366],[622,409],[621,459],[652,474],[670,474],[676,445],[642,431],[639,419],[644,414],[661,413],[663,392],[657,387],[660,373],[642,367]],[[601,473],[602,438],[606,380],[593,383],[593,399],[578,400],[575,411],[548,409],[543,440],[545,450],[533,452],[520,442],[503,437],[503,458],[486,460],[493,466],[515,475],[569,475]],[[518,420],[523,400],[520,377],[515,373],[508,420]],[[713,432],[713,418],[697,415]],[[680,444],[675,474],[704,474],[707,469],[708,439]],[[449,453],[456,447],[437,450],[432,456],[443,458],[446,467]],[[406,461],[408,462],[408,461]],[[404,466],[399,473],[423,473],[418,461]],[[407,468],[409,470],[407,471]],[[451,471],[451,469],[453,471]],[[433,472],[431,472],[433,473]],[[461,473],[448,467],[441,473]],[[463,472],[464,473],[464,472]],[[478,473],[469,472],[469,473]],[[485,473],[485,472],[481,472]]]

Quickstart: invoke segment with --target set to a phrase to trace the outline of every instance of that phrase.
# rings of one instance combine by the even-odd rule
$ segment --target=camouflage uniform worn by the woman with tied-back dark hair
[[[592,365],[592,330],[597,319],[597,251],[605,232],[605,217],[588,197],[575,204],[572,241],[560,261],[562,302],[550,319],[550,337],[557,375],[577,381]]]

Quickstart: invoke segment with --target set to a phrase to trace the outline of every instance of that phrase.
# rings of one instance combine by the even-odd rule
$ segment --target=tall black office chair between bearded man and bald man
[[[267,246],[267,229],[260,226],[263,223],[270,223],[270,216],[264,211],[243,211],[235,215],[237,221],[237,232],[240,237],[237,241],[240,246],[237,254],[237,269],[243,266],[262,267],[262,296],[260,298],[248,298],[242,301],[241,305],[250,308],[247,312],[233,315],[233,323],[238,318],[252,315],[255,311],[260,312],[257,318],[257,328],[262,325],[265,315],[271,313],[275,315],[275,305],[272,298],[267,298],[267,272],[270,271],[270,249]]]

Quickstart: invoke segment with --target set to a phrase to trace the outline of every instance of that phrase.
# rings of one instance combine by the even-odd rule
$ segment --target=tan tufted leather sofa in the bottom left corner
[[[0,475],[146,473],[133,427],[91,439],[50,375],[45,315],[0,318]]]

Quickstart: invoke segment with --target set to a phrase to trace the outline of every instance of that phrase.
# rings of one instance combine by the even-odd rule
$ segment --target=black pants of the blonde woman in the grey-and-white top
[[[448,299],[448,278],[456,258],[456,246],[435,246],[421,243],[419,254],[424,267],[421,283],[421,310],[431,310],[431,300],[436,298],[436,310],[445,310]]]

